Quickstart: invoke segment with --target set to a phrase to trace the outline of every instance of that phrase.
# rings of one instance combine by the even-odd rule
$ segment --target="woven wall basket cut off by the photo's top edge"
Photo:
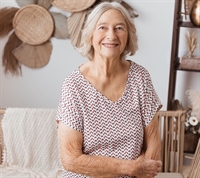
[[[78,12],[92,6],[96,0],[53,0],[52,5],[59,9]]]

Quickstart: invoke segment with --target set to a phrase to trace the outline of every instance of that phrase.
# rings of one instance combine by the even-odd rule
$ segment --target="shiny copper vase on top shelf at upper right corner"
[[[190,21],[195,26],[200,26],[200,0],[196,0],[190,11]]]

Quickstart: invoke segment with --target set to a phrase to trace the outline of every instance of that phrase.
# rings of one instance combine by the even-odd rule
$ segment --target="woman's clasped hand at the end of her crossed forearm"
[[[137,178],[154,178],[160,172],[162,162],[159,160],[147,159],[145,155],[142,154],[136,160],[136,166],[137,171],[135,176],[137,176]]]

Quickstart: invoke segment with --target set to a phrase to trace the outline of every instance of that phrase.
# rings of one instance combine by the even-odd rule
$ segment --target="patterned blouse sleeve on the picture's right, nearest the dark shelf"
[[[148,71],[144,72],[144,94],[141,99],[141,112],[143,125],[146,127],[153,119],[155,113],[162,107],[161,101],[154,89]]]

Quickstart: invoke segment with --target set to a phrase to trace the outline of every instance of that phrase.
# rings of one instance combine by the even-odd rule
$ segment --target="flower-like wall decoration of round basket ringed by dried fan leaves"
[[[67,17],[61,13],[55,17],[49,11],[52,0],[16,2],[20,8],[0,9],[0,37],[12,31],[3,53],[4,73],[21,75],[21,64],[30,68],[48,64],[53,48],[51,37],[68,39],[69,34]]]

